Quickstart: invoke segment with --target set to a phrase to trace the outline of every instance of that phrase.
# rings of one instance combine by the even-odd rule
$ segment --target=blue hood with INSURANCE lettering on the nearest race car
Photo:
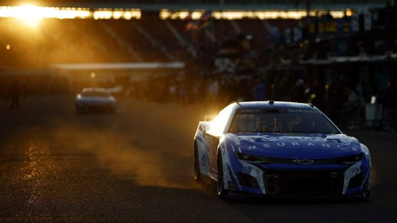
[[[243,153],[285,158],[330,158],[361,152],[359,141],[344,134],[228,133],[226,140]]]

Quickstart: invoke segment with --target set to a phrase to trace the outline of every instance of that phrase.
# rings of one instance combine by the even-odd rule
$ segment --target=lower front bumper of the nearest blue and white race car
[[[230,197],[346,197],[361,196],[370,189],[370,169],[354,165],[254,165],[228,171],[225,189]],[[272,167],[271,167],[272,166]],[[229,170],[232,168],[229,166]],[[239,197],[237,196],[237,197]]]

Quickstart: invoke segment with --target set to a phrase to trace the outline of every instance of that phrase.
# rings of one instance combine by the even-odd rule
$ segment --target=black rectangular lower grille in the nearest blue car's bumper
[[[337,195],[342,194],[343,172],[266,170],[263,183],[267,194]]]

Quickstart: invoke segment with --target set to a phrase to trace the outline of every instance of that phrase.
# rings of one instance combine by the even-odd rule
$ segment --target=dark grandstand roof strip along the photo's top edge
[[[2,1],[5,5],[26,4],[22,0]],[[140,8],[144,11],[161,9],[215,9],[215,10],[257,10],[257,9],[345,9],[380,7],[387,0],[34,0],[36,5],[54,7],[87,7],[87,8]]]

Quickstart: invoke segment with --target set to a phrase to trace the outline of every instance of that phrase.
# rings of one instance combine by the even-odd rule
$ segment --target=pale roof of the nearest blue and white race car
[[[306,103],[278,101],[236,102],[235,104],[240,108],[315,108]]]

